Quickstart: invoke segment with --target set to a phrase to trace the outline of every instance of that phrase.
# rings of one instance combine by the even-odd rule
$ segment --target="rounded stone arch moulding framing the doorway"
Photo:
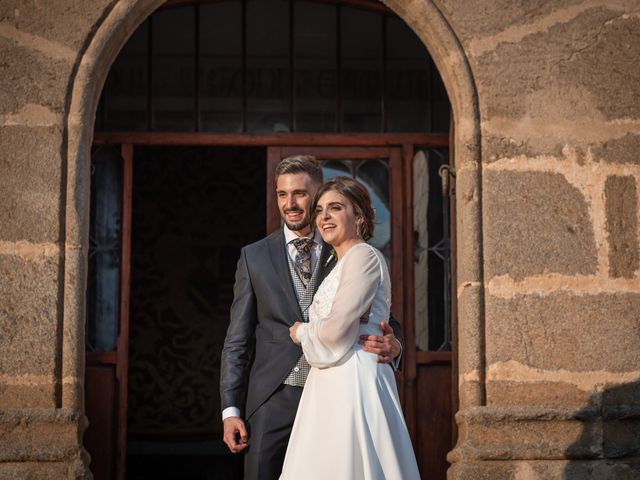
[[[84,411],[84,320],[89,245],[89,165],[97,103],[129,36],[164,0],[119,1],[102,17],[75,65],[66,116],[66,211],[61,407]],[[432,0],[385,0],[422,40],[453,109],[457,178],[459,410],[485,404],[484,280],[478,95],[467,56]]]

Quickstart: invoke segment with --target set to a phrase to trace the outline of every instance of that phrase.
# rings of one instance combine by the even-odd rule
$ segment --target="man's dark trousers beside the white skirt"
[[[247,421],[245,480],[277,480],[282,472],[302,387],[281,385]]]

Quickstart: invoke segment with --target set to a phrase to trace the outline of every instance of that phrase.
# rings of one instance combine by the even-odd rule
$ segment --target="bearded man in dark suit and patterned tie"
[[[231,321],[222,350],[220,395],[224,442],[246,449],[245,479],[280,476],[309,364],[289,337],[289,327],[307,321],[307,310],[335,265],[331,247],[309,223],[322,167],[312,156],[285,158],[276,168],[282,228],[242,249],[236,270]],[[315,232],[315,233],[314,233]],[[399,336],[399,325],[392,320]],[[401,351],[387,324],[384,336],[361,338],[378,361]],[[242,410],[244,406],[244,410]]]

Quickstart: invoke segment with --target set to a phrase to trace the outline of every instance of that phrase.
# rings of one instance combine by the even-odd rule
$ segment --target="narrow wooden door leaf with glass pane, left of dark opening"
[[[96,480],[125,478],[132,155],[92,154],[84,444]]]

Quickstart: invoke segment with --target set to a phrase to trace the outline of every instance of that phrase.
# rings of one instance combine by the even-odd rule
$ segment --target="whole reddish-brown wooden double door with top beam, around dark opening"
[[[91,261],[94,255],[105,255],[112,252],[118,256],[117,272],[108,272],[107,276],[114,283],[116,297],[111,312],[115,320],[112,341],[104,348],[96,348],[92,344],[91,335],[95,334],[97,323],[104,321],[95,315],[88,315],[87,326],[89,338],[86,355],[86,412],[91,425],[85,434],[85,445],[92,456],[91,469],[96,479],[125,478],[126,460],[126,406],[127,406],[127,356],[128,356],[128,315],[129,315],[129,268],[130,268],[130,228],[131,228],[131,189],[132,189],[132,145],[245,145],[263,146],[267,150],[266,203],[267,232],[279,227],[275,196],[275,167],[284,157],[294,154],[313,154],[321,160],[327,176],[336,174],[351,175],[369,187],[374,196],[377,214],[384,213],[386,237],[378,239],[377,246],[390,260],[390,271],[393,285],[393,313],[403,327],[404,351],[402,367],[397,372],[398,388],[403,404],[409,433],[414,442],[416,456],[422,478],[425,480],[444,480],[448,467],[446,454],[452,449],[454,442],[453,412],[455,411],[455,384],[452,382],[452,348],[455,339],[438,345],[418,345],[420,333],[416,331],[416,298],[426,295],[416,286],[416,271],[422,268],[417,262],[420,249],[414,222],[414,208],[420,202],[432,203],[440,191],[438,177],[439,165],[448,163],[448,139],[442,135],[216,135],[216,134],[102,134],[94,139],[98,150],[96,155],[107,158],[106,163],[117,166],[115,172],[121,185],[117,191],[111,188],[110,195],[117,197],[117,242],[107,239],[101,244],[99,239],[91,239],[89,281],[100,278],[94,272],[92,280]],[[329,146],[331,145],[331,146]],[[415,178],[414,154],[418,151],[439,153],[440,158],[429,157],[432,167],[428,195],[414,198]],[[106,153],[105,153],[106,152]],[[96,156],[96,162],[104,162]],[[94,162],[95,163],[95,162]],[[95,174],[96,172],[94,172]],[[448,178],[448,177],[447,177]],[[92,178],[92,189],[96,179]],[[113,186],[111,186],[113,187]],[[99,205],[92,190],[92,219]],[[451,206],[439,201],[440,220],[448,224]],[[112,201],[114,201],[112,199]],[[418,203],[416,203],[418,202]],[[92,220],[94,221],[94,220]],[[92,225],[92,229],[94,226]],[[92,230],[92,235],[95,236]],[[449,244],[453,232],[448,235],[447,242],[430,245],[428,248],[435,254],[443,256],[442,263],[453,265],[448,258]],[[104,242],[103,242],[104,243]],[[444,245],[444,246],[443,246]],[[426,248],[426,246],[425,246]],[[446,255],[445,255],[446,254]],[[114,277],[115,275],[115,277]],[[446,276],[445,276],[446,277]],[[443,278],[455,285],[455,280]],[[115,280],[114,280],[115,278]],[[104,275],[102,280],[105,281]],[[445,289],[448,287],[445,287]],[[91,289],[89,289],[91,290]],[[443,290],[444,291],[444,290]],[[447,294],[449,295],[449,294]],[[87,298],[88,306],[92,299]],[[450,311],[444,329],[455,332],[451,322],[455,320],[455,295],[449,302]],[[91,309],[89,308],[91,314]],[[104,317],[104,315],[102,315]],[[419,319],[418,319],[419,320]],[[94,332],[91,324],[94,322]],[[102,327],[100,327],[102,328]],[[95,335],[94,335],[95,336]]]

